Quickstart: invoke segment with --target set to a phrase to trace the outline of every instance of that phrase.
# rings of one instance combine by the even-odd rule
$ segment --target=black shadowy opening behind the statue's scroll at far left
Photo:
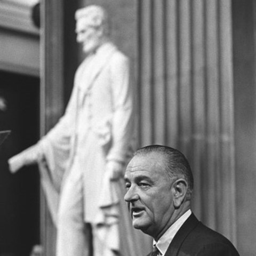
[[[37,166],[11,174],[7,159],[39,138],[39,78],[0,72],[0,130],[11,134],[0,147],[0,254],[27,256],[39,243]]]

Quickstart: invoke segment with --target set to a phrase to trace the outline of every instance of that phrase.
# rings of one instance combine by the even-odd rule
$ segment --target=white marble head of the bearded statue
[[[107,12],[98,5],[78,9],[75,13],[77,42],[83,44],[83,51],[96,50],[108,38]]]

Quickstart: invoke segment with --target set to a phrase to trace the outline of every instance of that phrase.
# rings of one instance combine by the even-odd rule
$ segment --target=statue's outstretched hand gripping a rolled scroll
[[[25,149],[8,160],[10,171],[15,173],[25,165],[35,164],[37,162],[38,155],[39,149],[37,145]]]

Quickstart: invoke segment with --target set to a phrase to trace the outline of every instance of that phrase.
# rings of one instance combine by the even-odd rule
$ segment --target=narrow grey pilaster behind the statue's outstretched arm
[[[63,114],[63,3],[41,2],[41,136]],[[41,243],[44,256],[55,255],[56,229],[41,193]]]

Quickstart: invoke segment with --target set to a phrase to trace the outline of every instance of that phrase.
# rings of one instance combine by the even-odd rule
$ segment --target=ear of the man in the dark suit
[[[180,178],[174,181],[173,189],[173,205],[175,209],[178,209],[186,198],[188,191],[188,183],[185,179]]]

